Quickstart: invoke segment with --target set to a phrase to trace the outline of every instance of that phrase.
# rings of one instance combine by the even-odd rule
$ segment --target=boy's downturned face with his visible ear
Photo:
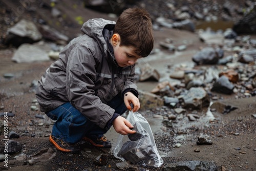
[[[142,58],[134,52],[134,47],[120,46],[119,34],[114,34],[112,36],[111,44],[113,46],[115,59],[119,67],[132,66],[139,58]]]

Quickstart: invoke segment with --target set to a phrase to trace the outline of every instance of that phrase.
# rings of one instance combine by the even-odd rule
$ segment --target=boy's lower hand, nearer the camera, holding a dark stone
[[[133,128],[133,125],[122,116],[118,116],[112,124],[115,131],[119,134],[127,135],[136,133],[136,131],[130,130]]]

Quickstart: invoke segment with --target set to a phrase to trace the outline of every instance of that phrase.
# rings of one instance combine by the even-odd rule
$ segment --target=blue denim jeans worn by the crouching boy
[[[123,99],[118,95],[108,102],[108,105],[115,109],[115,113],[120,115],[127,110]],[[52,120],[56,120],[53,125],[52,135],[65,142],[76,143],[84,136],[98,138],[108,132],[108,130],[102,129],[91,122],[74,108],[70,102],[58,106],[58,108],[47,112],[46,115]]]

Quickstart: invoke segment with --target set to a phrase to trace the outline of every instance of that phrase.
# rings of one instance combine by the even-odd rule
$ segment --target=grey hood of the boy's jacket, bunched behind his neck
[[[83,24],[81,31],[90,37],[95,38],[99,44],[103,46],[104,53],[108,49],[108,45],[103,37],[103,29],[113,30],[116,22],[111,20],[106,20],[103,18],[89,19]]]

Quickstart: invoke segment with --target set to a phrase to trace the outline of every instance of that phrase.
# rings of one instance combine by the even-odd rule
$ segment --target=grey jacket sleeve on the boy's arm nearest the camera
[[[93,51],[85,46],[80,45],[72,49],[67,62],[66,87],[71,104],[104,129],[115,110],[95,95],[94,81],[97,75],[94,55]]]

